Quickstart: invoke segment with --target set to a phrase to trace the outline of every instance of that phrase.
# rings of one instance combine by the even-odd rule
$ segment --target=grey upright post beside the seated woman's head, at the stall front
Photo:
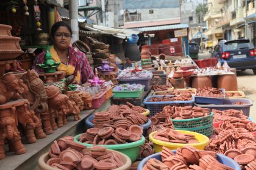
[[[78,31],[78,1],[69,0],[69,24],[72,29],[72,39],[71,43],[79,39]]]

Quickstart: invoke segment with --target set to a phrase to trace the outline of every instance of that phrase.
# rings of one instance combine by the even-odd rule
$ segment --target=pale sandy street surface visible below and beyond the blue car
[[[199,59],[210,58],[210,53],[208,51],[204,51],[203,53],[199,53]],[[246,98],[249,98],[256,101],[256,75],[252,72],[252,70],[245,70],[244,72],[237,72],[237,81],[238,81],[238,90],[241,90],[246,95]],[[251,107],[250,117],[256,120],[256,105]]]

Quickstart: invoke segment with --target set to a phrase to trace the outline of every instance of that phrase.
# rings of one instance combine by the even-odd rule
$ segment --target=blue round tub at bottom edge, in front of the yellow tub
[[[172,152],[176,153],[176,151],[172,151]],[[157,160],[162,161],[160,153],[150,155],[149,157],[146,157],[143,160],[141,160],[140,164],[138,165],[138,170],[143,170],[143,166],[151,158],[156,158]],[[233,168],[234,170],[241,170],[240,166],[238,165],[238,163],[236,163],[236,161],[232,160],[232,158],[229,158],[225,155],[217,154],[217,160],[223,165],[227,165],[230,168]]]

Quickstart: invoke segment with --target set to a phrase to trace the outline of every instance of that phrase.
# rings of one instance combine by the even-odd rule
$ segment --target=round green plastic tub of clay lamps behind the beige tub
[[[87,143],[82,143],[79,141],[79,137],[81,134],[76,135],[74,137],[74,141],[77,143],[83,144],[87,147],[93,146],[93,144],[87,144]],[[140,145],[145,143],[145,138],[142,136],[141,140],[138,141],[133,141],[131,143],[123,143],[123,144],[108,144],[108,145],[100,145],[100,146],[105,146],[107,149],[113,149],[115,151],[119,151],[125,155],[127,155],[130,160],[135,161],[136,158],[139,155],[140,151]]]

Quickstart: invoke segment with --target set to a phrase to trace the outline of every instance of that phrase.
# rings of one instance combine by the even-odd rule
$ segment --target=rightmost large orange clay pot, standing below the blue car
[[[238,84],[236,74],[218,75],[217,87],[218,89],[225,89],[226,91],[237,91]]]

